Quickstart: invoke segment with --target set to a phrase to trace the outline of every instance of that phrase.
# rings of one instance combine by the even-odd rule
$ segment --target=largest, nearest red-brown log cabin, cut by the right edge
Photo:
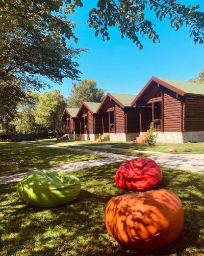
[[[158,142],[204,141],[203,84],[153,76],[131,105],[139,107],[141,132],[155,123]]]

